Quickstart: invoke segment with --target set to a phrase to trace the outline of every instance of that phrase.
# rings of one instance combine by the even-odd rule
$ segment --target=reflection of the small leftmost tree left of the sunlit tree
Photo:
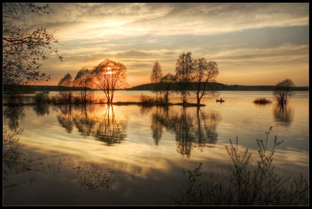
[[[60,105],[58,106],[58,109],[60,110],[60,114],[56,116],[56,118],[58,118],[58,122],[68,133],[71,133],[73,130],[71,104]]]

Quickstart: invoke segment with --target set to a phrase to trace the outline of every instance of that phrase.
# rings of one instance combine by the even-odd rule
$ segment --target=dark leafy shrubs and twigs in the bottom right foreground
[[[250,172],[248,163],[251,153],[248,149],[241,155],[239,140],[233,144],[229,140],[227,147],[232,165],[229,165],[229,176],[223,179],[211,173],[209,179],[202,180],[201,163],[183,184],[184,192],[181,199],[173,197],[177,205],[212,205],[212,206],[307,206],[309,204],[309,183],[302,176],[291,176],[282,181],[274,172],[272,164],[275,149],[283,143],[275,136],[272,148],[268,148],[268,135],[272,127],[266,132],[266,140],[257,140],[259,160],[257,167]],[[184,172],[185,176],[185,172]]]

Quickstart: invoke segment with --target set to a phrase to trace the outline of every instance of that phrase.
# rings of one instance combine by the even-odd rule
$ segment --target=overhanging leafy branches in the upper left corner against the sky
[[[49,4],[3,3],[3,84],[27,84],[49,80],[50,75],[40,72],[42,63],[51,53],[58,55],[54,44],[58,40],[46,28],[33,32],[24,27],[26,15],[42,16],[52,11]],[[58,55],[62,61],[62,57]]]

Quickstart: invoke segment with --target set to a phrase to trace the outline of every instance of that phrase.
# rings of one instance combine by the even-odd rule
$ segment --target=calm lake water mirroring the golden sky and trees
[[[139,101],[150,91],[117,91],[114,102]],[[51,92],[50,96],[55,95]],[[101,98],[101,92],[95,97]],[[227,171],[229,139],[257,162],[257,139],[284,140],[275,172],[309,178],[309,92],[296,91],[286,107],[259,105],[271,91],[221,91],[205,107],[139,107],[92,104],[4,107],[9,131],[24,129],[19,143],[28,170],[4,174],[6,205],[169,205],[180,197],[185,176],[202,163],[210,173]],[[191,97],[189,102],[196,102]],[[180,102],[173,95],[171,102]]]

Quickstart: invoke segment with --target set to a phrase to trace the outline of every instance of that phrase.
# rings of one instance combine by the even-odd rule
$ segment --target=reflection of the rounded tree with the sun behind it
[[[103,119],[98,122],[96,130],[94,131],[94,137],[96,140],[101,140],[106,145],[114,145],[115,143],[121,143],[127,136],[125,129],[127,125],[125,122],[117,121],[114,114],[114,106],[107,104]]]

